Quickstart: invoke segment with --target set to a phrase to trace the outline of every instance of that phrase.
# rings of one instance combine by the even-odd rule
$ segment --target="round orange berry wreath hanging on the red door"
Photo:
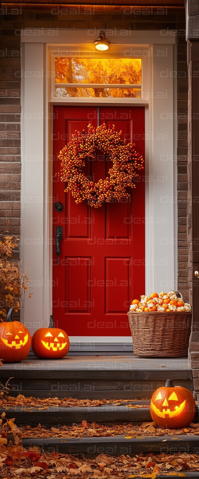
[[[104,125],[88,125],[87,130],[75,131],[72,140],[60,151],[61,181],[66,182],[65,192],[71,191],[76,203],[87,199],[88,205],[98,208],[104,201],[111,198],[119,201],[122,196],[130,196],[126,188],[135,188],[133,182],[137,170],[144,168],[144,160],[136,152],[133,143],[121,140],[121,131],[115,131],[115,125],[108,129]],[[94,151],[98,149],[108,154],[113,166],[105,180],[97,183],[82,172],[87,157],[94,158]]]

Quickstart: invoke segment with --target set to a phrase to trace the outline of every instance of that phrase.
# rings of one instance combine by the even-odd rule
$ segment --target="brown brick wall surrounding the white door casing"
[[[187,243],[187,111],[188,111],[188,75],[187,44],[185,39],[185,12],[183,9],[165,10],[164,15],[156,9],[136,10],[127,7],[112,6],[109,10],[95,6],[80,7],[65,5],[54,6],[53,11],[43,6],[40,10],[30,10],[25,6],[18,14],[13,9],[4,11],[1,21],[1,57],[0,57],[0,232],[20,233],[20,112],[21,85],[18,74],[20,69],[20,43],[15,30],[32,27],[44,28],[101,28],[104,17],[105,28],[131,30],[178,29],[178,289],[186,300],[188,291],[188,243]],[[68,12],[66,11],[68,8]],[[87,9],[87,13],[84,9]],[[88,12],[88,8],[91,11]],[[57,13],[56,13],[57,10]],[[10,13],[10,15],[9,15]],[[167,14],[166,14],[167,13]],[[184,33],[183,33],[184,31]],[[4,53],[2,53],[4,52]],[[2,56],[3,55],[3,56]],[[17,256],[17,252],[15,253]],[[19,254],[19,253],[18,253]],[[18,256],[17,256],[18,257]]]

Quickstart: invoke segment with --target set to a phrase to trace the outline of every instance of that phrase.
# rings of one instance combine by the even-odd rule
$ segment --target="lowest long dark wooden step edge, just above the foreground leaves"
[[[85,457],[95,457],[98,454],[120,456],[128,454],[135,456],[143,452],[149,453],[193,453],[199,451],[198,436],[145,436],[132,439],[126,437],[82,437],[82,438],[22,438],[23,447],[29,448],[38,445],[47,452],[59,452],[62,454],[84,454]],[[193,476],[193,473],[191,473]],[[198,471],[199,477],[199,471]],[[191,476],[191,477],[192,477]],[[190,476],[189,476],[190,477]],[[162,476],[161,476],[162,478]]]

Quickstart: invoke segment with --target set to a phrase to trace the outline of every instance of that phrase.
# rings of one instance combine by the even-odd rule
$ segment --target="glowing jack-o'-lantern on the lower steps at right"
[[[165,387],[158,388],[152,398],[150,413],[153,421],[165,429],[186,427],[193,421],[196,403],[191,392],[181,386],[174,387],[168,379]]]

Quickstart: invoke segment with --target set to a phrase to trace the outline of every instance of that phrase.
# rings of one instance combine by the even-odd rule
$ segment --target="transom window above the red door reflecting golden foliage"
[[[55,96],[141,98],[141,58],[55,57]]]

